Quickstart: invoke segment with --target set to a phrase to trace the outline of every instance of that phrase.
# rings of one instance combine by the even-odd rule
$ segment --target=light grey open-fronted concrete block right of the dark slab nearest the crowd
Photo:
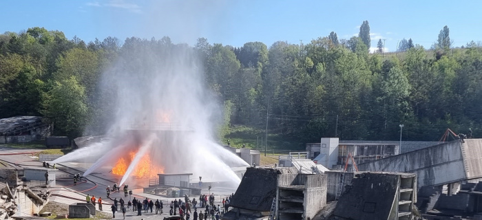
[[[326,175],[278,175],[276,201],[276,219],[313,219],[326,206]]]

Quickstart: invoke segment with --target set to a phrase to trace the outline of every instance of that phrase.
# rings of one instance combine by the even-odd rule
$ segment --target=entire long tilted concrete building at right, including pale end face
[[[357,165],[371,172],[416,173],[419,188],[457,188],[461,181],[482,178],[482,139],[454,140]]]

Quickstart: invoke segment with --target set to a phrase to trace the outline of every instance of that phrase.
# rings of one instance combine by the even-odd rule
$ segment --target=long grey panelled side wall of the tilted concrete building
[[[358,169],[416,173],[418,187],[448,184],[466,178],[459,140],[358,164]]]

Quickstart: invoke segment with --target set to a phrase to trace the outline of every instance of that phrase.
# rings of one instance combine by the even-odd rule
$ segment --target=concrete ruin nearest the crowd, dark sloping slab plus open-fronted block
[[[326,204],[324,198],[324,175],[299,173],[294,167],[251,167],[233,195],[233,209],[222,219],[260,219],[270,212],[276,219],[310,219]]]

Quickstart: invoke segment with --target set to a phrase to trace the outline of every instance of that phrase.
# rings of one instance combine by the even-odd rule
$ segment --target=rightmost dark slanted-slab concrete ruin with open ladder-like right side
[[[333,215],[345,219],[412,219],[416,179],[412,173],[358,173],[338,199]]]

